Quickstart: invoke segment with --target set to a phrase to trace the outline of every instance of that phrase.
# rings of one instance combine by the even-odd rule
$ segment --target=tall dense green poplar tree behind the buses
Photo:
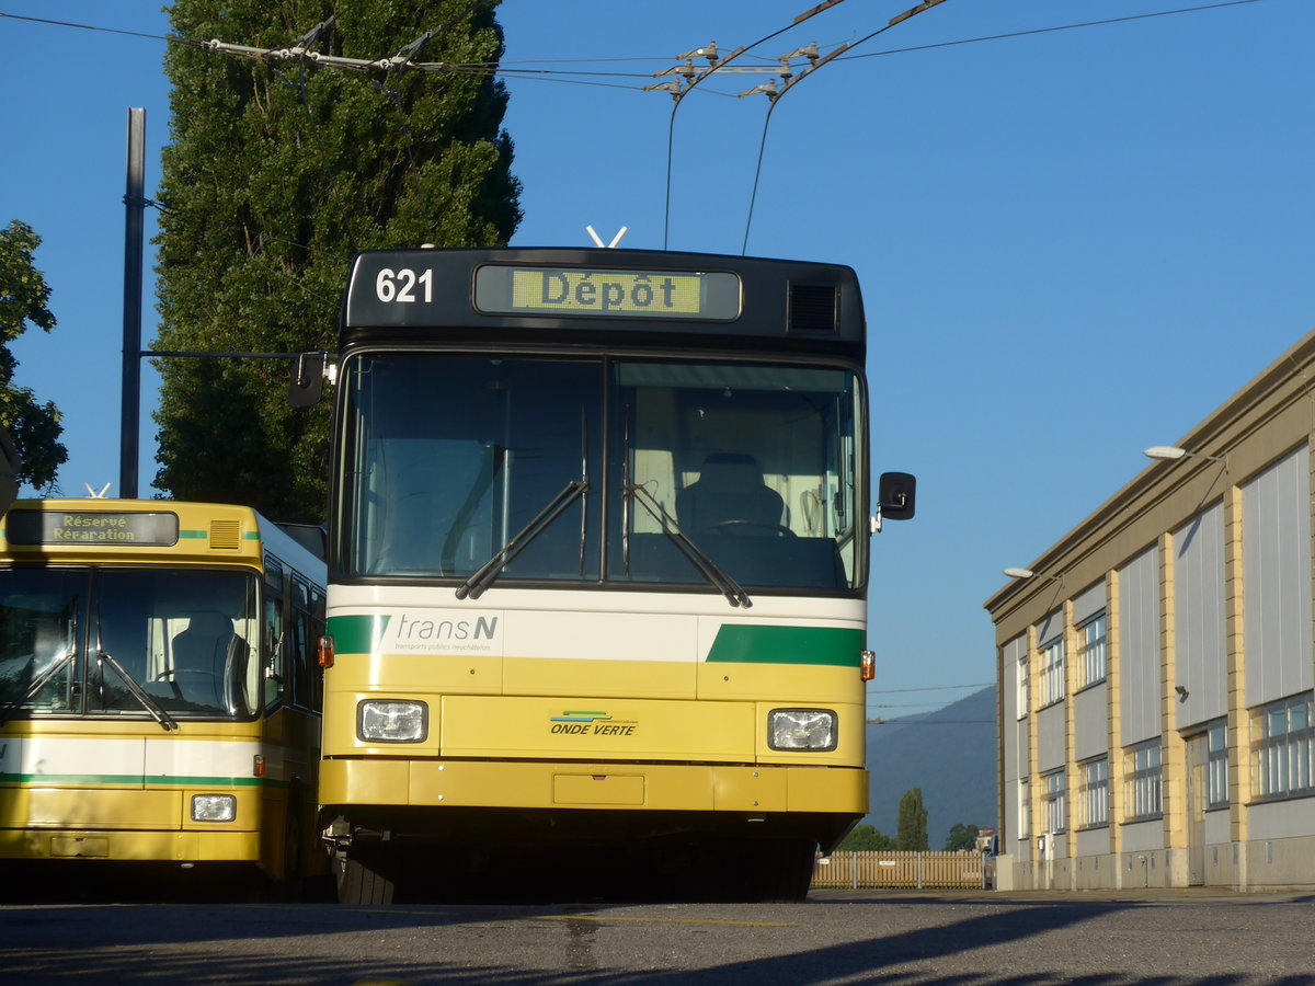
[[[175,0],[183,38],[392,57],[429,30],[417,62],[492,64],[496,3]],[[325,21],[327,21],[325,24]],[[521,218],[506,91],[485,72],[345,71],[175,43],[164,150],[155,348],[337,348],[356,248],[497,246]],[[284,360],[162,358],[160,468],[180,498],[323,519],[327,401],[293,409]]]

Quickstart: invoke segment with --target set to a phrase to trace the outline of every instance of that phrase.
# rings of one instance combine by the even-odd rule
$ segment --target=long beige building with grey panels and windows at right
[[[985,603],[1001,889],[1315,887],[1315,331],[1176,450]]]

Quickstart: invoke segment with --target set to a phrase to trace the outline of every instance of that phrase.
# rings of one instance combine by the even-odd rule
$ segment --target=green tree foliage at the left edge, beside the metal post
[[[51,401],[39,404],[32,388],[14,387],[18,360],[8,346],[29,323],[47,333],[55,327],[55,317],[46,306],[50,288],[33,266],[38,246],[41,237],[25,222],[14,220],[0,230],[0,425],[9,429],[22,459],[18,481],[41,489],[54,486],[59,467],[68,459],[59,440],[64,429]]]

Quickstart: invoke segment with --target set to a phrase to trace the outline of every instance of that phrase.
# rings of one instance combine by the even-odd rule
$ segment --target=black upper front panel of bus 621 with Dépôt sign
[[[865,351],[857,276],[843,264],[577,247],[356,254],[341,344],[580,343]],[[429,331],[426,331],[429,330]]]

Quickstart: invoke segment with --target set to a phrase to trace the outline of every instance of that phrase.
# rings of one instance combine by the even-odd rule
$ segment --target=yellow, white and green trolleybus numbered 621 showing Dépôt
[[[842,266],[355,258],[321,764],[341,899],[512,851],[633,893],[806,894],[868,810],[864,358]],[[882,485],[910,517],[913,477]]]

